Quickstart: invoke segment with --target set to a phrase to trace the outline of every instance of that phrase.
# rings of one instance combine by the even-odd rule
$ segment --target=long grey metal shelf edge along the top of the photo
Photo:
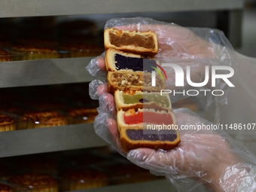
[[[112,0],[2,0],[0,17],[33,17],[78,14],[118,14],[156,11],[203,11],[242,8],[240,0],[159,0],[136,1]]]

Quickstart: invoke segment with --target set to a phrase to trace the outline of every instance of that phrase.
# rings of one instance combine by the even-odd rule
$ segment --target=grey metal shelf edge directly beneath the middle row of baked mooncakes
[[[93,130],[93,123],[53,126],[0,133],[0,157],[94,148],[107,143]]]

